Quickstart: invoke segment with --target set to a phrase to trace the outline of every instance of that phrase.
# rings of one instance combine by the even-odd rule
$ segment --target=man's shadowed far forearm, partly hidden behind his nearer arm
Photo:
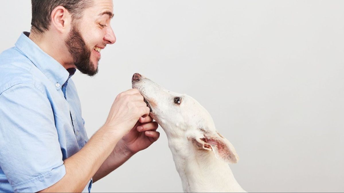
[[[134,155],[133,152],[129,151],[123,144],[121,140],[117,143],[114,151],[109,155],[109,157],[100,166],[98,171],[93,176],[93,182],[105,177],[107,174],[111,173],[123,163],[125,163],[131,156]]]

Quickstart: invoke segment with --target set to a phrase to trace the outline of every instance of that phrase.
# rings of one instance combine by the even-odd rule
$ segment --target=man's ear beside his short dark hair
[[[52,12],[50,17],[50,25],[57,31],[63,33],[69,31],[72,23],[72,15],[63,6],[57,6]]]

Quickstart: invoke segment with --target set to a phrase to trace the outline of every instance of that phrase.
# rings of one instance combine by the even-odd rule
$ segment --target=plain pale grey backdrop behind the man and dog
[[[2,52],[30,30],[31,1],[0,12]],[[114,13],[98,75],[73,77],[89,137],[139,72],[209,111],[246,191],[344,191],[344,1],[115,0]],[[92,192],[182,192],[158,130]]]

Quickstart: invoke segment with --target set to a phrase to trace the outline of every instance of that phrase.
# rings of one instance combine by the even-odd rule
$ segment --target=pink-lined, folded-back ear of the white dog
[[[233,145],[221,134],[204,134],[203,136],[194,137],[193,144],[198,148],[213,151],[215,157],[228,163],[237,163],[237,155]]]

